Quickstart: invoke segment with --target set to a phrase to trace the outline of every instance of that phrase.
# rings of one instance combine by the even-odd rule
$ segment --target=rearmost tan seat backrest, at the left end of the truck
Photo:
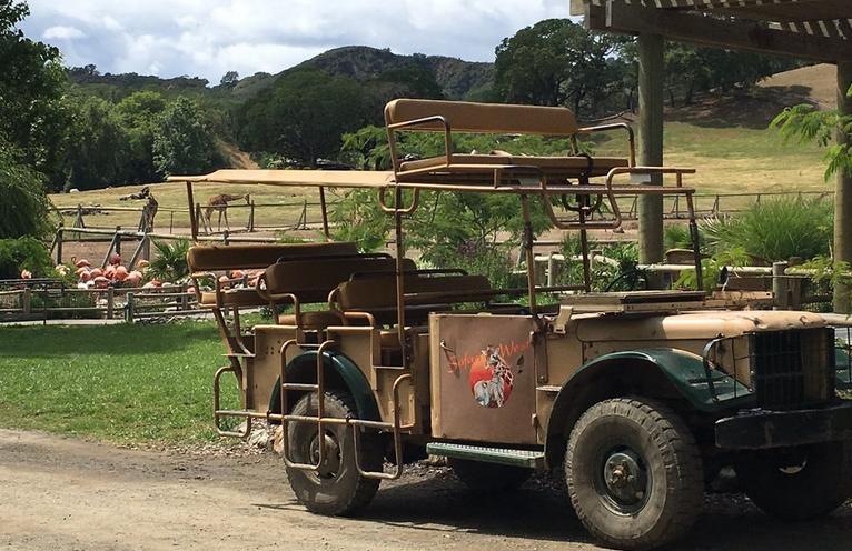
[[[357,254],[351,242],[228,244],[198,246],[189,249],[187,263],[190,271],[218,271],[266,268],[280,258],[321,257],[327,254]]]

